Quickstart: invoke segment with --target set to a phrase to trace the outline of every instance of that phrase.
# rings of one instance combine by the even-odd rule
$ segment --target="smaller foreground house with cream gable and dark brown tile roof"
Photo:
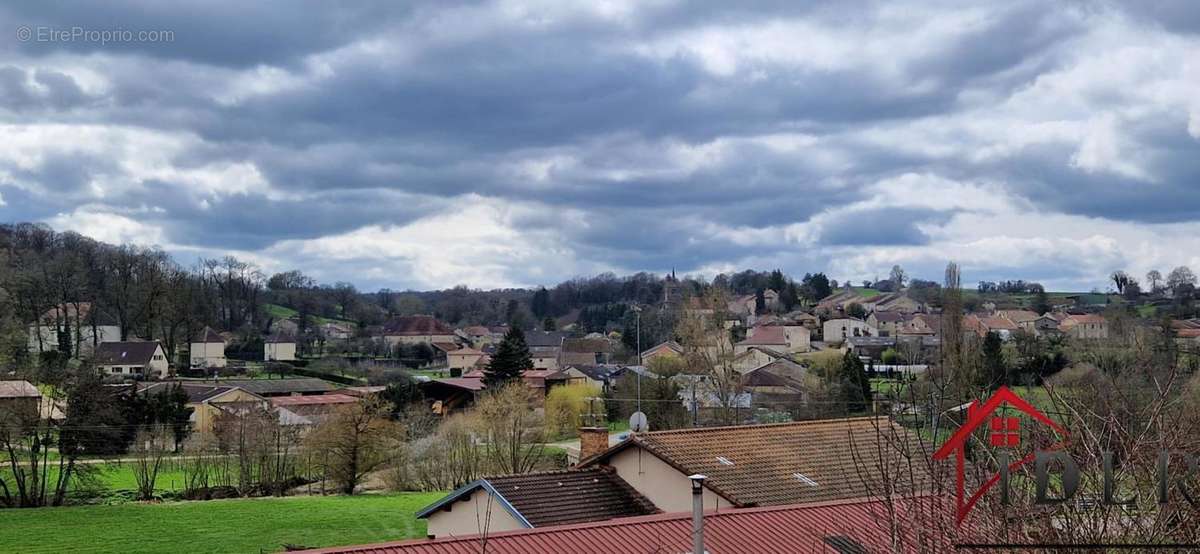
[[[503,475],[472,481],[416,512],[430,538],[538,529],[659,510],[606,468]]]

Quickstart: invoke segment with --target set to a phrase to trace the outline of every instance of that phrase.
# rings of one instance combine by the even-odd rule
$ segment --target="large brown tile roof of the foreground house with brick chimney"
[[[707,475],[704,486],[739,507],[880,494],[884,477],[876,465],[907,469],[908,457],[912,481],[920,487],[930,481],[929,454],[917,435],[875,417],[637,433],[580,465],[601,464],[635,446],[684,475]],[[910,478],[893,481],[905,487]]]

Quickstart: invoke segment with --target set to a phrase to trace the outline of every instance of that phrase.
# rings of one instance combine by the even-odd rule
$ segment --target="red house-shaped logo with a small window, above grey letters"
[[[972,494],[970,498],[966,498],[966,492],[964,490],[965,488],[964,481],[966,472],[965,454],[966,454],[966,444],[967,440],[971,439],[972,433],[974,433],[976,429],[978,429],[980,426],[986,424],[988,439],[989,439],[988,442],[991,446],[1010,448],[1020,446],[1021,444],[1020,417],[992,416],[992,414],[995,414],[997,409],[1000,409],[1006,404],[1054,429],[1054,432],[1058,435],[1060,440],[1058,442],[1055,442],[1046,450],[1061,450],[1067,444],[1068,434],[1066,429],[1058,426],[1058,423],[1051,421],[1049,417],[1045,416],[1045,414],[1038,411],[1037,408],[1033,408],[1033,405],[1021,399],[1021,397],[1016,396],[1016,393],[1008,390],[1008,387],[1006,386],[1000,387],[996,391],[996,393],[991,396],[991,398],[988,398],[988,401],[983,403],[983,405],[979,404],[979,401],[972,402],[971,405],[967,408],[966,423],[964,423],[962,427],[960,427],[959,430],[954,433],[954,435],[947,439],[946,444],[943,444],[942,447],[937,450],[937,452],[934,452],[934,459],[946,459],[949,458],[950,454],[954,454],[955,460],[958,462],[958,465],[955,468],[955,476],[958,481],[956,482],[958,524],[961,524],[962,520],[966,519],[967,514],[971,513],[971,510],[974,508],[976,502],[978,502],[979,499],[984,495],[984,493],[986,493],[990,488],[992,488],[1001,478],[1000,471],[996,471],[996,475],[994,475],[991,478],[984,482],[979,487],[979,490],[976,490],[974,494]],[[1012,471],[1016,468],[1020,468],[1021,465],[1032,462],[1033,458],[1034,453],[1030,452],[1021,459],[1009,464],[1008,470]]]

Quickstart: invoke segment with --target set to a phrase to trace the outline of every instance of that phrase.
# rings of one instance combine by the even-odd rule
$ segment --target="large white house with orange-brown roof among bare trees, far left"
[[[120,339],[116,319],[91,302],[60,303],[29,324],[31,353],[59,350],[61,345],[70,347],[72,357],[80,357],[95,353],[100,343]]]

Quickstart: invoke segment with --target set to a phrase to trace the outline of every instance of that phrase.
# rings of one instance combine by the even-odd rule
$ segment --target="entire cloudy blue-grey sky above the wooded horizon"
[[[1200,269],[1178,1],[0,7],[0,221],[361,289]]]

